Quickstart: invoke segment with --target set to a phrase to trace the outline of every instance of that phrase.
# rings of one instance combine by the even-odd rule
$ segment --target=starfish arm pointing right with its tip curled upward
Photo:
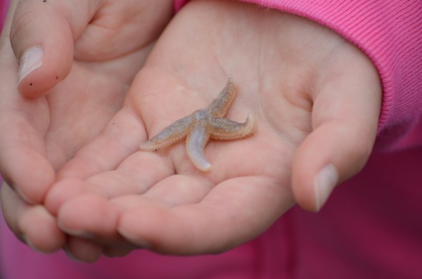
[[[226,118],[211,118],[208,120],[210,137],[229,141],[251,136],[257,130],[257,121],[252,113],[248,114],[245,123],[234,122]]]

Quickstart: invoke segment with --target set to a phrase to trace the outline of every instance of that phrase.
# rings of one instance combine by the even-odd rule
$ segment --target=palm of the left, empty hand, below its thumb
[[[106,63],[104,63],[106,64]],[[122,63],[124,67],[124,63]],[[100,134],[122,104],[127,82],[75,63],[68,79],[45,97],[49,127],[41,136],[58,169],[91,138]],[[93,85],[92,81],[99,85]]]

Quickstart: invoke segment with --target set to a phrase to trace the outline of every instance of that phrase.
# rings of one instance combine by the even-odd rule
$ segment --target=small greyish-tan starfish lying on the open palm
[[[236,85],[229,79],[223,91],[208,108],[196,110],[191,115],[177,120],[153,138],[141,143],[139,148],[157,151],[186,137],[186,150],[192,163],[201,171],[210,171],[211,164],[204,154],[205,145],[210,138],[235,140],[250,136],[257,129],[257,122],[252,113],[248,113],[245,123],[224,118],[236,97],[236,91]]]

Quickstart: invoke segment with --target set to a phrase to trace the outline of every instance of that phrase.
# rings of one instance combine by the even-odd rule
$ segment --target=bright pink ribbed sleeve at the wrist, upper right
[[[294,13],[341,34],[366,53],[383,82],[378,145],[422,144],[422,1],[243,0]],[[181,8],[186,1],[176,0]]]

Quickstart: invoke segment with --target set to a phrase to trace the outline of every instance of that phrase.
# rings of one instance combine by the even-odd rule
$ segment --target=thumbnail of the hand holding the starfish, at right
[[[333,164],[328,164],[319,171],[314,179],[316,212],[326,203],[338,182],[338,171]]]

